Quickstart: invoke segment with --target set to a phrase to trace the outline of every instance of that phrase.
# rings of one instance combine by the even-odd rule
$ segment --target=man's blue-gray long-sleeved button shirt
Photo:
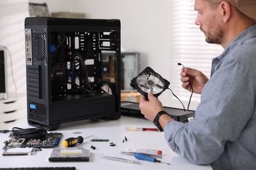
[[[256,24],[213,59],[194,119],[170,121],[164,130],[169,146],[191,163],[256,169]]]

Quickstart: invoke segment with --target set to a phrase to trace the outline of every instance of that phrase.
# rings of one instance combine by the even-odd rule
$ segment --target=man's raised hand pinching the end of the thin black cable
[[[181,86],[190,92],[192,92],[193,88],[194,93],[200,94],[208,80],[209,78],[203,75],[201,71],[187,67],[181,69]]]

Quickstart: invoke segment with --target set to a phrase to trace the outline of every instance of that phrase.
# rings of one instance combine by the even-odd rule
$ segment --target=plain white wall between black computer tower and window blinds
[[[38,0],[29,0],[38,3]],[[121,20],[121,46],[142,54],[141,70],[146,66],[165,71],[168,58],[169,1],[156,0],[44,0],[49,12],[84,12],[86,18]]]

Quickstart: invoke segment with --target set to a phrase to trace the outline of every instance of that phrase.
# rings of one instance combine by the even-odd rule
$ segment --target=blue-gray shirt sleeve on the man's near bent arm
[[[207,164],[236,141],[255,106],[255,84],[242,60],[229,59],[203,88],[201,103],[188,124],[170,121],[164,129],[172,150],[194,164]]]

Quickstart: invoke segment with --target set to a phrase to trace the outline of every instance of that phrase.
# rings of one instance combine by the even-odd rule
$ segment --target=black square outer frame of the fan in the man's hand
[[[170,85],[170,82],[168,80],[166,80],[165,78],[163,78],[160,74],[156,73],[152,68],[150,67],[146,67],[146,69],[144,69],[141,73],[139,73],[138,76],[136,76],[135,78],[133,78],[131,80],[131,86],[133,88],[135,88],[140,94],[144,95],[144,97],[148,98],[148,93],[144,92],[143,90],[141,90],[137,84],[137,78],[143,74],[150,74],[150,75],[154,75],[156,76],[164,85],[163,90],[160,93],[154,93],[155,97],[158,97],[161,93],[163,93]]]

